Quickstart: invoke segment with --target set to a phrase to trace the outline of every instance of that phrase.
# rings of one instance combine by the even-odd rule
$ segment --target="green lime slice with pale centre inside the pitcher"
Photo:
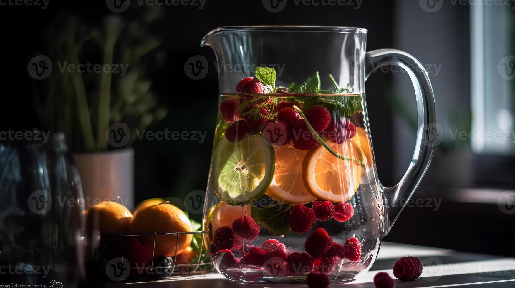
[[[244,205],[259,199],[270,186],[276,156],[261,135],[247,134],[235,143],[224,137],[215,153],[213,186],[228,204]]]

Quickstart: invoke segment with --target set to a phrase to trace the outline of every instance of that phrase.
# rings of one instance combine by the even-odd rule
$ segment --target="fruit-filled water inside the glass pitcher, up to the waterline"
[[[352,280],[383,222],[364,94],[286,91],[220,94],[205,243],[231,279]]]

